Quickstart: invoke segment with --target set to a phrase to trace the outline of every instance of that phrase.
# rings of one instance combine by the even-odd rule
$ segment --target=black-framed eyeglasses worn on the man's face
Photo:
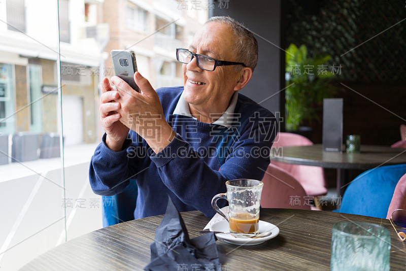
[[[216,69],[217,66],[243,65],[244,67],[246,67],[246,65],[243,62],[216,60],[207,55],[199,55],[192,53],[187,49],[183,48],[176,49],[176,59],[178,59],[179,62],[188,64],[190,61],[192,61],[193,57],[196,57],[196,64],[200,69],[210,72],[214,71],[214,69]]]

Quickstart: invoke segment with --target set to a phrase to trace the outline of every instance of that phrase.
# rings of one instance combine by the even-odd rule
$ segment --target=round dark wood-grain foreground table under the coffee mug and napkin
[[[191,238],[209,219],[199,211],[182,213]],[[277,225],[276,238],[256,246],[217,241],[224,271],[330,270],[331,229],[341,221],[372,222],[391,234],[391,270],[404,270],[406,244],[389,220],[327,211],[262,209],[260,219]],[[150,262],[150,243],[162,216],[143,218],[99,229],[62,244],[21,270],[142,270]],[[190,268],[190,266],[189,266]]]

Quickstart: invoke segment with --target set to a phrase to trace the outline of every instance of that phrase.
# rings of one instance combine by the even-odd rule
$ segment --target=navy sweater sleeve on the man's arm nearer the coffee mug
[[[226,151],[220,169],[211,168],[180,134],[163,151],[151,155],[151,160],[163,183],[184,204],[212,217],[215,213],[211,199],[226,192],[227,180],[262,180],[269,164],[270,147],[277,131],[276,121],[261,122],[254,118],[241,131]]]

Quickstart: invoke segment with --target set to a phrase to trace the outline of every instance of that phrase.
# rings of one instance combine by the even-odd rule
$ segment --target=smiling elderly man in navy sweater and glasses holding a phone
[[[156,91],[140,73],[136,92],[118,77],[103,82],[100,119],[106,133],[89,177],[100,195],[138,185],[134,218],[165,212],[167,195],[179,211],[215,214],[211,199],[225,182],[261,180],[277,123],[239,94],[258,59],[257,41],[229,17],[212,17],[188,49],[177,49],[184,86]],[[220,60],[221,59],[221,60]]]

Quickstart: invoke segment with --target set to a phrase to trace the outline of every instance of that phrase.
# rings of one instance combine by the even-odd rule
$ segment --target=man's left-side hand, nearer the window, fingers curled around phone
[[[105,78],[102,83],[101,104],[99,107],[101,126],[106,131],[106,145],[113,151],[121,151],[123,143],[127,138],[129,129],[119,120],[121,114],[117,113],[120,103],[115,99],[119,93],[110,86],[109,79]]]

